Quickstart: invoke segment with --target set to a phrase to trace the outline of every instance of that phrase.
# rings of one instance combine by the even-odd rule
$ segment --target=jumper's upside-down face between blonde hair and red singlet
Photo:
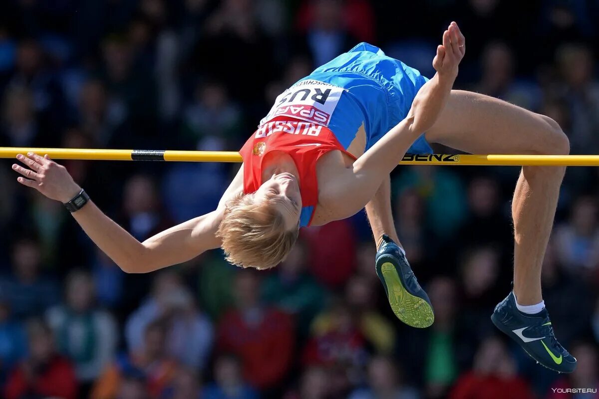
[[[297,226],[301,213],[301,194],[297,178],[291,173],[278,173],[262,183],[256,197],[273,202],[273,206],[285,218],[285,226]]]

